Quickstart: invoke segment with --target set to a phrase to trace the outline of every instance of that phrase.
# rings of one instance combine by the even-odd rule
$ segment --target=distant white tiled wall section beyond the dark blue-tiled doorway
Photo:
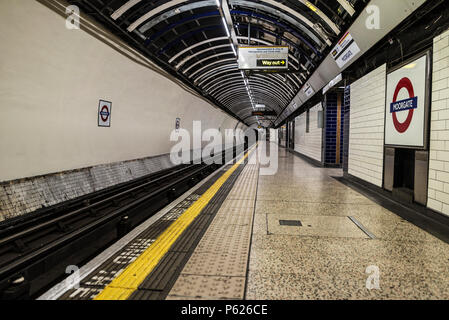
[[[320,162],[323,129],[318,128],[318,111],[322,110],[321,103],[310,109],[309,133],[306,133],[306,112],[295,120],[295,151]]]

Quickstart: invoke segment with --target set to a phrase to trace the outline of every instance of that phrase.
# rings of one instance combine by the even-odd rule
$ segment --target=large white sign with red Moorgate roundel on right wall
[[[428,55],[387,75],[385,144],[426,147]]]

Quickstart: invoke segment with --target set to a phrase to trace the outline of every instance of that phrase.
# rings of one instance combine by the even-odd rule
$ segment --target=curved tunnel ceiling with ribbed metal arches
[[[254,105],[279,114],[368,0],[68,2],[247,125],[269,127],[276,117],[253,117]],[[244,75],[239,45],[288,46],[289,70]]]

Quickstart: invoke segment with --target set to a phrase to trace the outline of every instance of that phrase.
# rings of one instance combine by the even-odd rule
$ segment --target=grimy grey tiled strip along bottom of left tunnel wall
[[[105,164],[0,184],[0,221],[172,167],[169,155]]]

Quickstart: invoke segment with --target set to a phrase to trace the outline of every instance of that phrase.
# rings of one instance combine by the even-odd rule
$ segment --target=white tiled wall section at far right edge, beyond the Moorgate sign
[[[434,39],[433,49],[427,206],[449,215],[449,30]]]

